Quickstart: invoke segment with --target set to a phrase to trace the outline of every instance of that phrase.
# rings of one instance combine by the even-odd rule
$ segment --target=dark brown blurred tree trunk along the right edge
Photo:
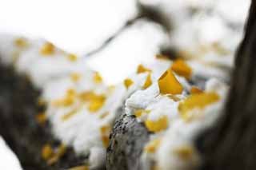
[[[198,138],[202,169],[256,169],[256,1],[238,49],[225,114]]]

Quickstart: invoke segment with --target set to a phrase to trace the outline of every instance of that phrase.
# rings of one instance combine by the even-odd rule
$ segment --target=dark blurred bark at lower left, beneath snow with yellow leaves
[[[35,116],[38,107],[38,90],[18,76],[13,69],[0,65],[0,135],[18,156],[25,170],[66,169],[83,164],[85,157],[75,156],[72,148],[53,166],[42,160],[44,144],[58,146],[50,132],[50,125],[39,125]]]

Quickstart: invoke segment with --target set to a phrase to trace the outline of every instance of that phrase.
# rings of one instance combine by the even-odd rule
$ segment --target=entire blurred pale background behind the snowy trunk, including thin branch
[[[249,6],[250,0],[0,0],[0,34],[44,38],[88,57],[114,84],[162,49],[232,69]],[[229,53],[205,52],[215,43]],[[3,148],[0,168],[15,169],[3,161]]]

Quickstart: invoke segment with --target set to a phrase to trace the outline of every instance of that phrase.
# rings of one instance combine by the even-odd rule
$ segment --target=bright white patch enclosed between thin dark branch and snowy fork
[[[105,77],[106,84],[115,84],[128,77],[140,63],[154,58],[166,43],[168,36],[161,26],[139,20],[100,53],[91,56],[88,64]]]

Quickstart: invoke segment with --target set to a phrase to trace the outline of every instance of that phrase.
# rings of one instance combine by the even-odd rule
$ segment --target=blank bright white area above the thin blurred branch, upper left
[[[88,53],[134,18],[135,0],[0,0],[0,32],[46,38]]]

